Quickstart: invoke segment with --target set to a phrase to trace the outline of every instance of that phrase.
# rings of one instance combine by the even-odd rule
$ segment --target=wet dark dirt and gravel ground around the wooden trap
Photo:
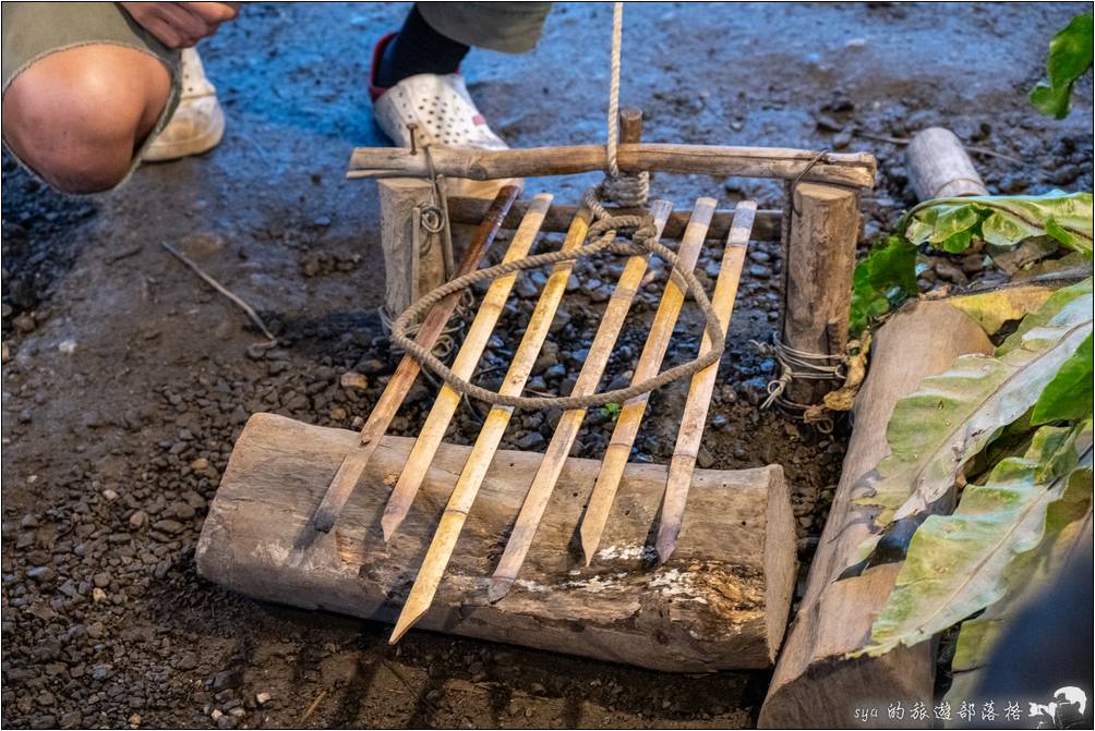
[[[993,193],[1091,189],[1090,115],[1053,121],[1026,102],[1049,37],[1083,7],[630,5],[623,100],[643,107],[652,141],[874,152],[866,244],[913,198],[901,147],[857,132],[903,138],[942,124],[1021,161],[977,155]],[[195,572],[208,502],[247,416],[351,428],[396,362],[374,312],[376,189],[343,172],[353,146],[385,143],[369,112],[369,55],[405,11],[245,8],[201,46],[229,119],[223,143],[145,166],[108,195],[56,195],[4,158],[5,727],[754,723],[765,672],[670,675],[422,631],[389,648],[385,626],[256,603]],[[523,147],[602,139],[610,12],[561,4],[534,53],[469,57],[472,93],[503,137]],[[1090,109],[1090,77],[1082,86],[1075,105]],[[575,202],[593,179],[546,184]],[[782,198],[774,183],[704,176],[662,176],[655,192],[678,207],[698,195],[762,208]],[[249,348],[261,339],[254,327],[161,242],[253,303],[281,346]],[[706,252],[698,269],[716,272],[717,256]],[[577,272],[554,356],[566,369],[545,363],[545,391],[580,360],[600,297],[591,280],[611,280],[612,266]],[[774,363],[748,340],[772,332],[780,267],[776,246],[753,246],[701,460],[783,464],[805,567],[844,436],[758,409]],[[979,262],[956,259],[923,281],[981,276]],[[522,297],[528,308],[535,293]],[[625,344],[637,352],[643,337],[631,328]],[[685,322],[671,357],[690,358],[698,340]],[[625,375],[626,360],[609,380]],[[369,386],[342,387],[347,370]],[[415,433],[429,396],[417,388],[393,431]],[[678,398],[655,396],[635,459],[668,457]],[[581,454],[600,455],[606,420],[590,419]],[[504,446],[542,449],[550,421],[515,419]],[[476,429],[465,408],[451,439],[468,443]]]

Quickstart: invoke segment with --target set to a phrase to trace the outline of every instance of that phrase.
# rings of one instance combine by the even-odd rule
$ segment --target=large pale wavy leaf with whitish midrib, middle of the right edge
[[[1056,295],[1054,295],[1056,297]],[[895,509],[894,521],[920,515],[946,497],[966,463],[1038,401],[1092,333],[1091,286],[1056,313],[1047,300],[1017,345],[999,358],[961,356],[897,403],[886,428],[890,454],[864,475],[857,501]],[[1026,320],[1024,320],[1024,323]],[[889,522],[889,514],[879,517]]]

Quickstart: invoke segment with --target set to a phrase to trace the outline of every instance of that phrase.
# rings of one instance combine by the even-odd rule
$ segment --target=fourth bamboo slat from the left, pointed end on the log
[[[650,206],[650,212],[657,227],[657,236],[660,237],[666,221],[672,212],[672,204],[656,200]],[[612,298],[604,308],[604,314],[601,315],[597,335],[593,336],[593,341],[589,346],[589,355],[581,364],[581,371],[570,391],[573,395],[586,396],[597,390],[597,384],[600,383],[604,367],[612,355],[612,348],[620,330],[623,329],[624,318],[631,309],[635,291],[643,280],[643,275],[646,274],[646,256],[633,256],[624,265],[615,291],[612,292]],[[558,481],[560,473],[563,472],[563,465],[566,464],[566,457],[570,453],[574,440],[578,437],[578,430],[586,418],[586,411],[587,409],[584,408],[569,409],[564,411],[558,419],[555,433],[552,434],[543,461],[532,479],[532,486],[529,487],[529,492],[525,496],[525,503],[521,506],[517,523],[514,524],[514,530],[509,534],[506,550],[502,555],[502,560],[498,561],[494,576],[491,577],[487,596],[492,602],[500,601],[508,594],[517,580],[525,557],[532,545],[532,538],[540,527],[540,519],[543,518],[548,501],[551,499],[556,481]]]

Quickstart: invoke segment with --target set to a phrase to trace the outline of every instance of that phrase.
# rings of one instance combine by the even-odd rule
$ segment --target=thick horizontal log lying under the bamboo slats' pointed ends
[[[331,533],[316,533],[310,520],[323,486],[357,439],[344,429],[253,416],[210,503],[195,554],[198,572],[260,600],[394,619],[471,450],[441,445],[411,513],[385,544],[380,518],[388,485],[413,440],[383,438],[343,519]],[[777,465],[696,471],[694,509],[661,567],[649,566],[644,546],[666,467],[627,465],[604,536],[611,552],[585,569],[567,548],[599,463],[568,460],[560,479],[565,489],[552,497],[522,580],[491,604],[495,552],[540,461],[498,452],[419,626],[670,672],[770,666],[795,564],[794,519]]]

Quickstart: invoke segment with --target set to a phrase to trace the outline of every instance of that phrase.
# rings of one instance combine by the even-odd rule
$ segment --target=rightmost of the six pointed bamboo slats
[[[711,306],[718,315],[718,324],[723,332],[729,335],[730,316],[734,314],[734,302],[738,295],[738,282],[741,280],[741,265],[745,264],[746,250],[749,247],[749,233],[752,230],[753,212],[757,204],[746,200],[738,204],[734,216],[734,225],[726,240],[726,251],[715,282],[715,293],[711,298]],[[711,351],[714,345],[706,333],[700,345],[700,356]],[[669,462],[669,477],[666,480],[666,498],[661,506],[661,520],[658,523],[658,537],[655,547],[658,549],[658,561],[665,564],[677,547],[677,536],[680,535],[681,523],[684,520],[684,504],[688,501],[689,488],[692,486],[692,473],[695,471],[695,459],[703,439],[703,427],[707,422],[707,407],[711,395],[715,391],[715,376],[718,375],[718,363],[708,366],[692,376],[688,398],[684,401],[684,414],[681,417],[681,428],[677,433],[677,444],[673,445],[673,456]]]

